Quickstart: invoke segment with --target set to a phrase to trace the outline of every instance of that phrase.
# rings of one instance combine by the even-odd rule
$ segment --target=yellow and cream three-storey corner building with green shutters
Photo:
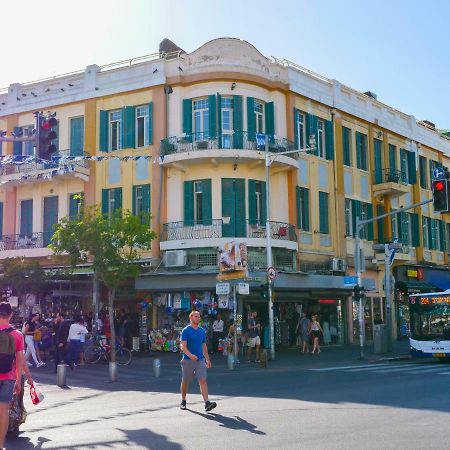
[[[76,214],[80,193],[104,213],[149,211],[158,238],[142,255],[148,270],[121,298],[129,308],[151,298],[146,314],[154,328],[173,325],[174,310],[193,299],[208,310],[218,301],[231,307],[231,299],[215,295],[218,247],[229,241],[245,242],[248,252],[250,294],[239,296],[239,313],[252,308],[267,317],[268,211],[256,134],[268,135],[283,344],[301,309],[320,315],[330,342],[355,340],[357,311],[344,276],[355,273],[356,218],[430,199],[433,169],[448,165],[450,155],[450,139],[430,122],[231,38],[189,54],[165,40],[158,54],[13,84],[0,92],[0,103],[2,130],[28,133],[36,110],[56,112],[58,119],[52,163],[33,160],[28,143],[2,145],[0,258],[64,265],[47,245],[53,225]],[[281,154],[293,150],[299,151]],[[386,307],[384,254],[373,244],[402,243],[392,305],[393,331],[400,336],[407,326],[405,293],[418,284],[450,287],[431,281],[446,280],[440,275],[448,267],[449,233],[446,217],[430,205],[361,231],[366,339]],[[430,281],[417,283],[418,273]],[[91,282],[88,270],[83,282]]]

